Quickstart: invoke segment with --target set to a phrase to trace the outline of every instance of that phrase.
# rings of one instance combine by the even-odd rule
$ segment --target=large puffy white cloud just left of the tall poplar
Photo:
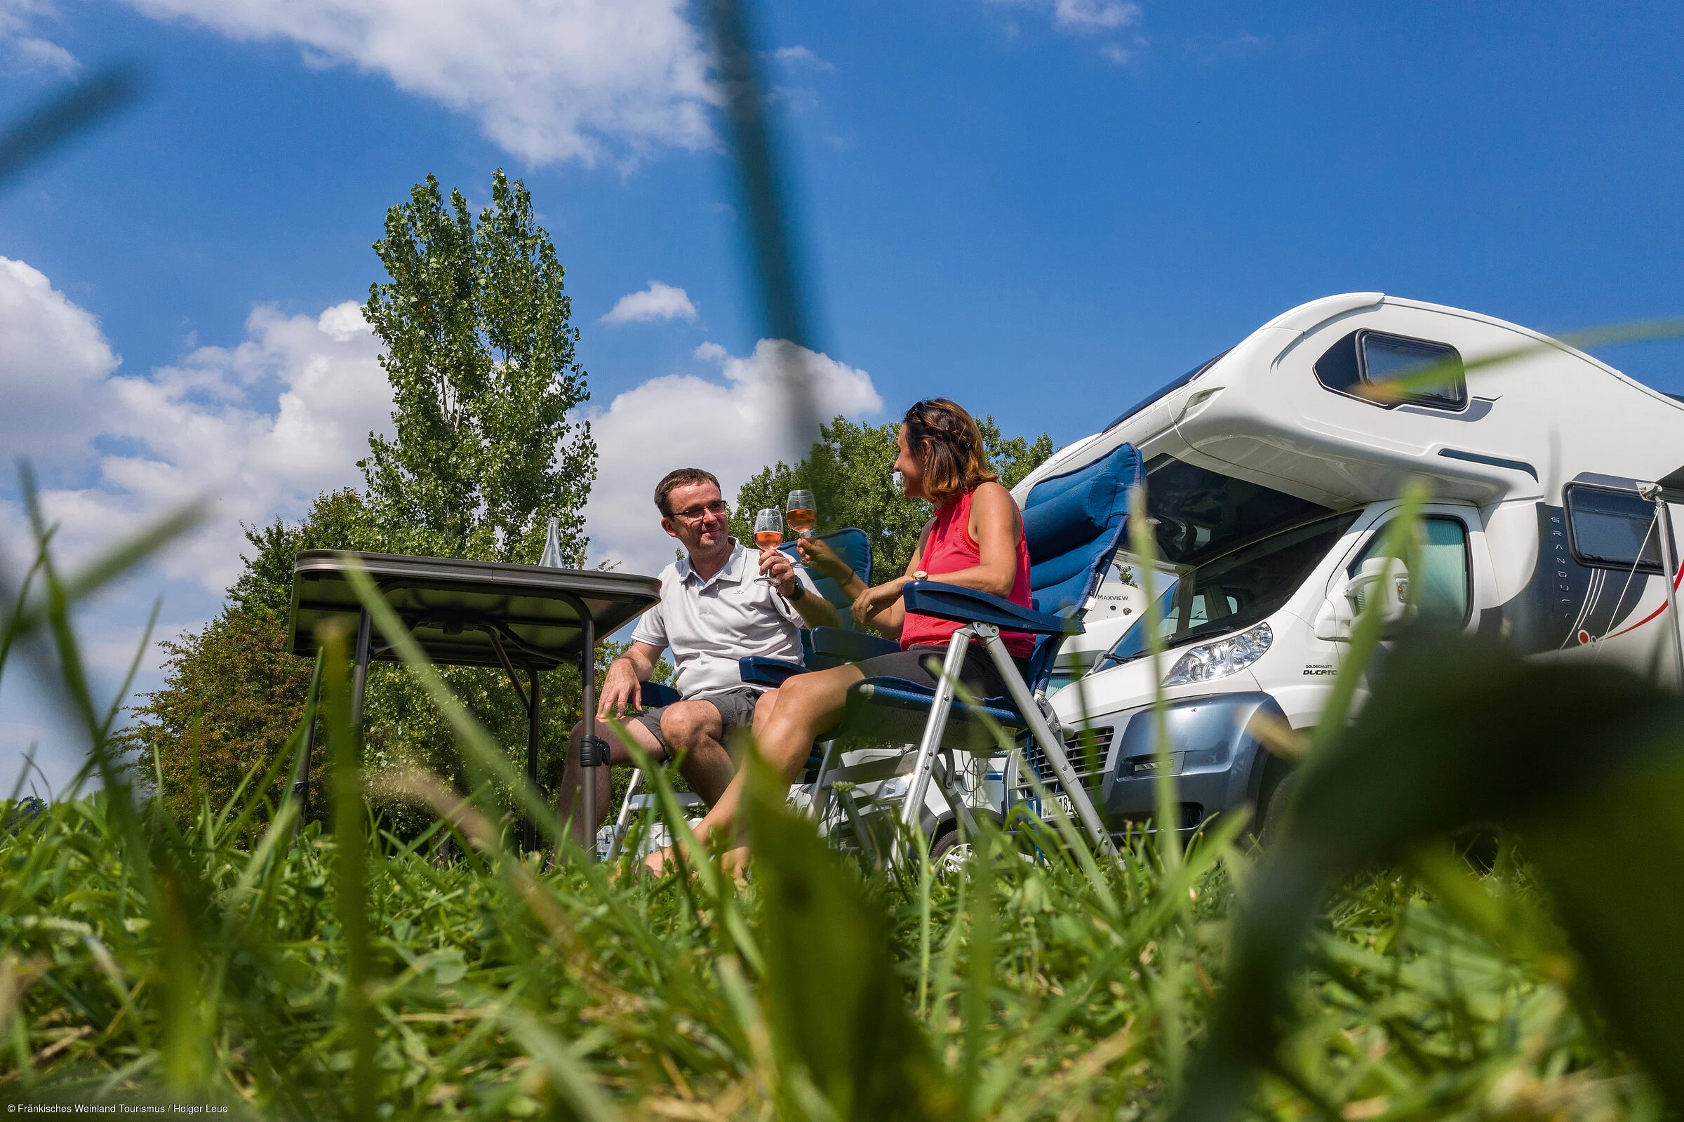
[[[377,352],[355,303],[317,317],[258,307],[236,347],[199,347],[145,376],[84,379],[74,414],[27,399],[13,408],[7,384],[0,416],[22,413],[37,425],[37,440],[94,463],[86,487],[42,492],[61,553],[86,554],[204,495],[212,502],[209,524],[160,568],[221,593],[239,573],[242,521],[298,516],[322,490],[360,482],[354,463],[369,430],[389,428],[391,387]],[[15,524],[15,509],[10,514]]]

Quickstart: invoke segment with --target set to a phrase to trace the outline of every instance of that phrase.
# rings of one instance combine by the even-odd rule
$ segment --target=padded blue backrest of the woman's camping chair
[[[1049,475],[1029,490],[1024,539],[1036,608],[1074,617],[1086,606],[1122,544],[1128,489],[1140,478],[1140,451],[1118,445],[1110,455]],[[1063,635],[1036,640],[1029,655],[1029,689],[1046,687],[1063,642]]]

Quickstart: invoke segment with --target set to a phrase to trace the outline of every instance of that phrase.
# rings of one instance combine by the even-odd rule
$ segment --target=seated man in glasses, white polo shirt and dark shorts
[[[726,745],[736,729],[753,728],[765,692],[743,682],[738,659],[800,662],[800,628],[837,627],[840,617],[790,558],[776,549],[744,549],[731,537],[731,509],[711,472],[669,472],[655,487],[655,509],[660,527],[679,539],[685,556],[662,569],[660,603],[638,620],[630,650],[608,664],[596,694],[596,718],[623,716],[626,733],[643,751],[655,760],[677,760],[679,773],[712,805],[736,773]],[[674,686],[684,699],[643,709],[642,684],[667,649],[677,667]],[[561,780],[557,807],[564,819],[578,815],[583,729],[583,724],[573,728]],[[598,735],[608,741],[610,763],[632,763],[620,738],[608,729]],[[598,820],[591,827],[573,824],[581,844],[606,820],[610,792],[611,770],[596,768]]]

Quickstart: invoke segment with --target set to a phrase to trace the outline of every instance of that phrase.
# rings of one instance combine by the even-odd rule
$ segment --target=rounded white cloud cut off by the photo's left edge
[[[81,451],[96,426],[88,398],[116,366],[99,320],[0,258],[0,446],[47,462]]]

